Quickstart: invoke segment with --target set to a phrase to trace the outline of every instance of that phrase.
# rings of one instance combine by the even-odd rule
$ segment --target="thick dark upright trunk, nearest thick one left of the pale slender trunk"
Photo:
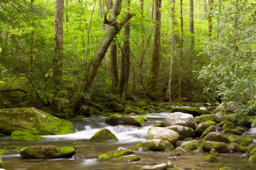
[[[156,91],[158,71],[160,65],[160,33],[161,33],[161,0],[155,0],[155,26],[154,26],[154,41],[153,41],[153,55],[151,61],[151,81],[149,88],[152,92]]]

